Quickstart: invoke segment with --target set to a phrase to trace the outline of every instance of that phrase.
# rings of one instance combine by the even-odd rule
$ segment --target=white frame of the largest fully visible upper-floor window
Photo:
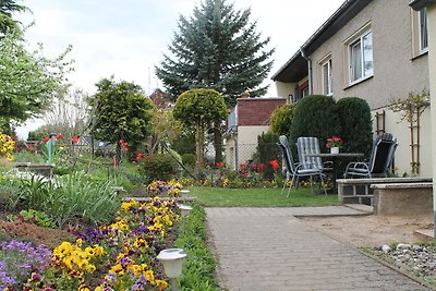
[[[368,36],[371,36],[371,38],[367,38]],[[365,59],[365,43],[367,43],[365,40],[367,39],[371,40],[371,56],[370,58]],[[355,51],[359,53],[356,57],[353,54]],[[356,38],[354,38],[353,41],[349,43],[348,57],[350,85],[359,83],[374,75],[373,32],[371,29],[365,31],[363,34],[360,34]],[[355,68],[355,65],[353,65],[354,61],[356,62],[356,65],[360,65],[360,68]],[[365,69],[365,63],[367,62],[371,62],[371,68]]]

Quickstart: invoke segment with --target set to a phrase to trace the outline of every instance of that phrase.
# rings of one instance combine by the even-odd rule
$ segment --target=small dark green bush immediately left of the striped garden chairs
[[[280,147],[277,146],[277,142],[279,140],[279,135],[276,133],[267,132],[262,133],[257,136],[257,158],[258,163],[264,163],[265,168],[263,169],[264,179],[274,180],[274,174],[276,172],[269,163],[272,160],[281,161],[281,151]]]

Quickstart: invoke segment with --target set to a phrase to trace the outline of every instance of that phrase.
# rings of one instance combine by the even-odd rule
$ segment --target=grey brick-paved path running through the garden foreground
[[[313,208],[207,208],[222,289],[429,290],[293,216],[305,210]]]

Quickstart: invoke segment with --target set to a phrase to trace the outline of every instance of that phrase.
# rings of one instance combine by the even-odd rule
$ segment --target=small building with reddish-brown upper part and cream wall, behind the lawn
[[[228,120],[226,163],[238,169],[253,158],[257,136],[269,129],[269,118],[286,98],[239,98]]]

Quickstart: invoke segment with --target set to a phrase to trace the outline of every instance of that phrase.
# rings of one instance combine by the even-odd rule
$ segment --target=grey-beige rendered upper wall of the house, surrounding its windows
[[[405,98],[410,92],[428,89],[427,54],[413,56],[412,10],[409,0],[377,0],[335,34],[311,59],[313,60],[314,94],[322,90],[322,71],[318,62],[328,53],[332,60],[334,97],[356,96],[368,101],[372,109],[384,107],[391,98]],[[374,76],[349,87],[348,47],[344,40],[371,22],[373,32]]]

